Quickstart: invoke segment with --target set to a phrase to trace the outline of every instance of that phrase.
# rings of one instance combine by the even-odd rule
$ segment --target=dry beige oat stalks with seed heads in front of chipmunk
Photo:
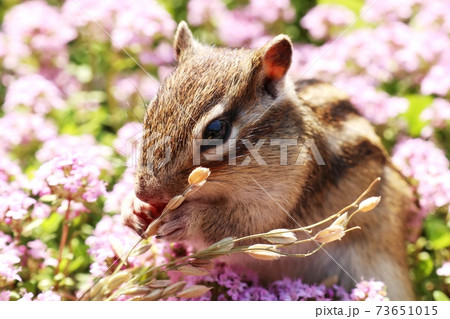
[[[200,296],[202,293],[207,292],[209,288],[202,285],[184,288],[185,282],[172,284],[168,280],[158,280],[157,278],[160,278],[169,270],[177,270],[185,275],[205,275],[208,267],[212,267],[212,260],[214,258],[236,253],[248,254],[262,260],[274,260],[284,257],[305,258],[311,256],[328,243],[340,240],[346,233],[361,229],[359,226],[348,229],[346,227],[355,214],[365,213],[374,209],[380,201],[379,197],[370,197],[363,200],[374,186],[380,182],[381,179],[377,178],[353,203],[312,225],[294,229],[275,229],[269,232],[240,238],[227,237],[205,249],[167,262],[163,265],[150,268],[135,267],[120,271],[128,257],[135,251],[139,244],[148,236],[156,234],[157,226],[161,219],[166,214],[182,205],[186,197],[201,188],[205,184],[208,176],[209,170],[205,168],[197,168],[191,173],[189,176],[189,187],[183,194],[175,196],[169,202],[160,217],[149,225],[142,238],[128,251],[124,258],[121,258],[121,262],[113,274],[102,278],[96,285],[91,287],[91,300],[115,300],[121,295],[132,296],[130,300],[160,300],[167,299],[171,296]],[[349,214],[351,209],[353,209],[353,212]],[[331,225],[317,231],[314,235],[311,235],[314,228],[324,225],[332,220],[334,220],[334,222]],[[152,225],[156,225],[156,227],[153,227],[152,229]],[[153,233],[149,233],[149,229],[152,229]],[[304,232],[308,235],[308,238],[297,239],[295,233],[298,232]],[[236,246],[237,243],[248,241],[254,242],[255,240],[258,241],[258,239],[268,243]],[[280,250],[280,248],[312,242],[315,242],[317,247],[305,253],[287,253]],[[142,249],[142,247],[138,249]]]

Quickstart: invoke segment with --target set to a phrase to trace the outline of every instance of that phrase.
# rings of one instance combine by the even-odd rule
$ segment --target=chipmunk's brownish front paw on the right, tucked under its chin
[[[191,213],[181,207],[163,217],[156,238],[169,242],[185,240],[191,222]]]

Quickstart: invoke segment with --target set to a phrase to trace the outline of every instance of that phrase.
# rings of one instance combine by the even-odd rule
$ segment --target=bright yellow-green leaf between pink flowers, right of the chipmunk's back
[[[412,137],[420,135],[422,129],[427,125],[427,122],[420,118],[423,110],[425,110],[431,103],[433,97],[428,95],[410,94],[405,96],[409,101],[409,109],[402,115],[408,123],[409,134]]]

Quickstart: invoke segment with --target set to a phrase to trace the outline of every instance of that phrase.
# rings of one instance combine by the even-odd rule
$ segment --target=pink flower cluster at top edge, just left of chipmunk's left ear
[[[66,1],[62,11],[72,26],[84,29],[96,40],[111,41],[118,51],[125,48],[139,54],[142,63],[173,61],[168,42],[161,39],[171,39],[176,24],[157,1]],[[106,32],[94,32],[98,25]]]

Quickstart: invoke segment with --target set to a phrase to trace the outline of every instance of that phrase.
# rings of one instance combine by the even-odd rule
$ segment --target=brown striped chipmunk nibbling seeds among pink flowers
[[[347,96],[318,80],[292,83],[286,35],[255,50],[216,48],[195,40],[181,22],[174,48],[178,64],[144,119],[124,223],[142,234],[200,165],[211,170],[208,182],[163,218],[158,238],[201,248],[228,236],[310,225],[381,177],[369,194],[381,203],[349,225],[361,231],[307,258],[268,262],[235,254],[228,262],[266,282],[289,276],[320,283],[337,275],[350,289],[373,278],[387,284],[391,299],[414,299],[405,249],[412,193]]]

